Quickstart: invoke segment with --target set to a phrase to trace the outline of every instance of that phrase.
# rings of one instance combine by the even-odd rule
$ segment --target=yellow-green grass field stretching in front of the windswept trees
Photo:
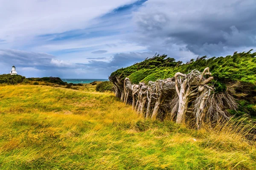
[[[232,127],[144,120],[89,86],[0,86],[0,169],[256,169],[256,145]]]

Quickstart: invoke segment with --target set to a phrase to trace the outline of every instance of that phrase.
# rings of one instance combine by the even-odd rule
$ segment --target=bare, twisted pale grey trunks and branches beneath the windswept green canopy
[[[210,84],[213,77],[208,67],[203,72],[177,72],[175,77],[150,81],[148,85],[142,82],[132,85],[129,78],[125,78],[123,84],[119,83],[122,81],[119,77],[112,77],[113,80],[116,80],[114,85],[122,86],[116,86],[116,91],[124,89],[120,99],[125,104],[131,103],[134,110],[147,119],[160,119],[159,115],[162,115],[164,119],[173,120],[176,117],[177,123],[184,123],[189,117],[200,128],[205,121],[228,118],[227,112],[223,111],[223,103],[231,103],[225,105],[226,108],[237,108],[234,99],[228,94],[223,94],[221,100],[215,99],[212,93],[214,87]],[[212,109],[215,107],[220,109]]]

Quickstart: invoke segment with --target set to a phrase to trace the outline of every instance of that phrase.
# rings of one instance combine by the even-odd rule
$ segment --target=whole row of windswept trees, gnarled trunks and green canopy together
[[[230,116],[256,116],[256,53],[198,57],[155,55],[111,74],[116,97],[145,118],[215,125]]]

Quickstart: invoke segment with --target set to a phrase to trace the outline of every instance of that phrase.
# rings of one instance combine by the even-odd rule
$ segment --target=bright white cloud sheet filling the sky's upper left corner
[[[90,21],[135,0],[0,0],[0,39],[13,42],[90,26]]]

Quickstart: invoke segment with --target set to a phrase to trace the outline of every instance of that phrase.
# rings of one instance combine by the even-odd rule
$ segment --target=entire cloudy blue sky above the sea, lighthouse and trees
[[[0,0],[0,74],[108,79],[154,54],[256,50],[255,0]]]

